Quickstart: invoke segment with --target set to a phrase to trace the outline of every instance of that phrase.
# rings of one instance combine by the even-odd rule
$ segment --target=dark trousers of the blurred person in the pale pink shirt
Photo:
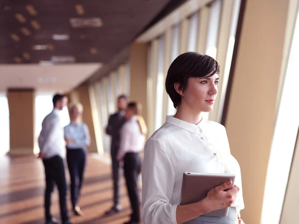
[[[138,175],[141,172],[141,157],[139,153],[127,153],[124,159],[124,171],[128,194],[133,213],[132,222],[140,222],[140,201],[137,187]]]

